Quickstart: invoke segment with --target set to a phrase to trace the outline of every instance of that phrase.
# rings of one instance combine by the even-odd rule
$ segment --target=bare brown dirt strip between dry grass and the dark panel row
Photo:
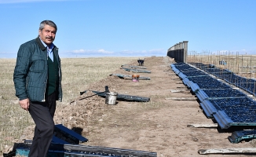
[[[112,74],[137,74],[150,80],[133,82],[110,74],[88,88],[103,92],[104,86],[108,86],[110,91],[119,94],[149,97],[149,102],[117,100],[117,104],[109,105],[105,104],[104,97],[88,91],[74,98],[70,105],[58,106],[55,122],[80,131],[89,140],[82,144],[157,152],[157,156],[218,157],[223,155],[199,155],[198,151],[209,148],[252,148],[250,141],[232,144],[228,140],[232,133],[219,128],[188,127],[191,124],[213,124],[214,121],[207,119],[197,100],[172,100],[174,97],[196,96],[171,70],[171,63],[175,62],[169,57],[148,57],[143,67],[151,73],[125,71],[120,65],[120,69]],[[130,65],[137,66],[137,60]],[[172,89],[184,91],[174,93]]]

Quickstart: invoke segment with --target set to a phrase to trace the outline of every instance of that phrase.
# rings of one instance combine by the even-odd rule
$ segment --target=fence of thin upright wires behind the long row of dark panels
[[[203,51],[189,51],[187,63],[192,64],[196,68],[210,71],[213,75],[217,75],[220,79],[225,79],[227,82],[243,87],[243,89],[251,91],[256,95],[256,56],[217,52],[211,53]]]

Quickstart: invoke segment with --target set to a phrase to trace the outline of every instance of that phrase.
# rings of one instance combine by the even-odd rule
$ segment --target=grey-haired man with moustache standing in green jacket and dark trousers
[[[28,156],[46,157],[52,141],[56,100],[62,100],[60,57],[53,45],[57,25],[43,20],[38,37],[20,46],[13,81],[20,107],[29,111],[35,134]]]

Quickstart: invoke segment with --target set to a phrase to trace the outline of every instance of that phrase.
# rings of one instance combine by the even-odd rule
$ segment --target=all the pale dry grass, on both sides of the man
[[[98,57],[62,59],[63,102],[79,96],[93,82],[106,78],[122,64],[137,60],[137,57]],[[24,128],[34,124],[27,111],[20,108],[15,96],[13,70],[15,59],[0,59],[0,151],[13,145],[22,135]]]

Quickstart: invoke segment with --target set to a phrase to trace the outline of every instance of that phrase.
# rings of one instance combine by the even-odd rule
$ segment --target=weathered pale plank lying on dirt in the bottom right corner
[[[206,154],[256,154],[256,148],[214,148],[199,149],[200,155]]]

